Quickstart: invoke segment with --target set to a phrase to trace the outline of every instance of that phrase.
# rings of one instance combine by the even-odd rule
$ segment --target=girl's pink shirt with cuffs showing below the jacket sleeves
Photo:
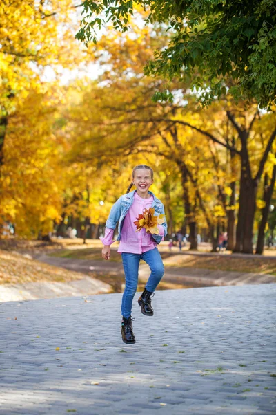
[[[139,214],[143,213],[144,209],[151,207],[153,197],[143,199],[135,192],[134,201],[130,206],[128,213],[124,219],[123,228],[121,229],[121,239],[118,252],[129,252],[132,254],[142,254],[148,250],[152,250],[157,246],[157,243],[152,238],[151,234],[148,234],[144,228],[140,232],[136,232],[136,226],[133,222],[137,221]],[[159,234],[164,236],[164,228],[161,225],[157,225]],[[113,242],[113,229],[106,228],[106,232],[101,242],[103,245],[111,245]]]

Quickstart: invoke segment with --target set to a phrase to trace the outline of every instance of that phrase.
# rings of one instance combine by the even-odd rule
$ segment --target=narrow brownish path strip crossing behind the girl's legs
[[[91,259],[70,259],[50,257],[48,255],[39,255],[36,257],[46,264],[60,266],[68,270],[79,271],[81,273],[89,273],[91,270],[116,275],[116,273],[124,274],[121,262],[100,261]],[[141,262],[139,267],[139,277],[145,282],[148,280],[148,265]],[[185,268],[185,267],[168,267],[165,266],[165,275],[162,279],[164,282],[172,282],[175,284],[191,284],[192,286],[224,286],[224,285],[244,285],[244,284],[269,284],[276,282],[275,275],[259,275],[259,273],[237,273],[219,270],[206,270],[203,268]]]

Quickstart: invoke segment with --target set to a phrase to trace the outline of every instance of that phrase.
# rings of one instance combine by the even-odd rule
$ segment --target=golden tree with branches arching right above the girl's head
[[[179,171],[191,248],[197,248],[197,221],[202,223],[202,216],[208,223],[215,250],[215,223],[221,212],[223,216],[226,214],[217,190],[223,194],[223,178],[230,180],[233,174],[224,173],[220,165],[214,172],[208,140],[202,140],[200,133],[182,126],[181,122],[175,123],[186,114],[190,122],[197,118],[200,126],[210,118],[210,113],[202,120],[199,111],[195,116],[193,104],[187,108],[177,104],[152,104],[149,82],[152,81],[138,82],[135,77],[125,79],[116,74],[114,84],[110,78],[108,86],[86,85],[82,102],[75,103],[69,117],[68,129],[75,135],[72,160],[89,164],[96,157],[104,164],[111,164],[114,158],[124,160],[139,154],[155,154],[170,160],[170,170],[175,169],[175,164]],[[195,101],[191,97],[190,100]]]

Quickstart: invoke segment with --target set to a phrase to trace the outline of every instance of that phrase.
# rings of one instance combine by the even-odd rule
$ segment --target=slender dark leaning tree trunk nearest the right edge
[[[268,177],[266,174],[266,177],[264,179],[264,201],[266,205],[262,209],[262,219],[259,223],[259,231],[258,231],[258,240],[257,240],[257,246],[256,246],[256,254],[262,254],[264,251],[264,231],[266,229],[266,222],[268,220],[268,212],[269,212],[269,206],[270,201],[273,195],[274,185],[275,185],[275,178],[276,178],[276,165],[273,167],[273,174],[270,182],[270,186],[268,186]]]

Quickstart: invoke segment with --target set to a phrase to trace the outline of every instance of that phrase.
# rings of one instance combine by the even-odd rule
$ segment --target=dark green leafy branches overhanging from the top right
[[[147,64],[147,75],[188,77],[205,105],[226,93],[236,100],[255,100],[260,107],[275,103],[274,0],[85,0],[77,38],[97,43],[95,28],[110,20],[125,32],[137,5],[148,11],[146,23],[166,24],[172,33],[168,47],[159,48]],[[167,91],[158,92],[159,98],[168,98]]]

